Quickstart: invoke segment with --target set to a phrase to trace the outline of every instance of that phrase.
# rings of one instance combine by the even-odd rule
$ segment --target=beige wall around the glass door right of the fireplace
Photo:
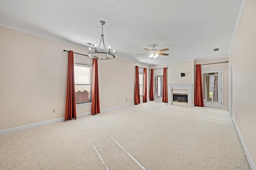
[[[228,88],[228,63],[221,63],[228,61],[228,57],[209,59],[209,60],[199,60],[195,61],[196,64],[208,64],[202,65],[201,70],[211,70],[211,69],[223,69],[223,108],[229,109],[229,88]],[[219,64],[209,64],[209,63],[219,63]],[[196,74],[196,67],[194,67],[194,74]]]

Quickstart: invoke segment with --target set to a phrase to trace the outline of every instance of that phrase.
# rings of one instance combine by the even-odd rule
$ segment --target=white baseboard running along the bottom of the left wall
[[[118,108],[121,108],[121,107],[132,106],[132,105],[134,105],[134,103],[126,104],[126,105],[122,105],[122,106],[111,107],[111,108],[108,108],[108,109],[102,109],[102,110],[100,110],[100,112],[105,112],[105,111],[114,110],[114,109],[118,109]],[[80,118],[80,117],[84,117],[84,116],[88,116],[88,115],[92,115],[92,113],[87,112],[87,113],[78,114],[78,115],[76,115],[76,118]],[[65,121],[65,118],[62,117],[62,118],[58,118],[58,119],[33,123],[33,124],[30,124],[30,125],[24,125],[24,126],[14,127],[14,128],[10,128],[10,129],[4,129],[4,130],[0,131],[0,135],[5,135],[5,134],[8,134],[8,133],[13,133],[13,132],[18,132],[18,131],[24,131],[26,129],[32,129],[34,127],[50,125],[50,124],[58,123],[58,122],[61,122],[61,121]]]

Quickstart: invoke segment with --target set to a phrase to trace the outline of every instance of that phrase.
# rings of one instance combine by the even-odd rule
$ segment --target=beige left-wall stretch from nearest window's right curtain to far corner
[[[118,58],[98,60],[100,109],[134,103],[135,66],[147,68],[148,74],[148,67],[141,64]]]

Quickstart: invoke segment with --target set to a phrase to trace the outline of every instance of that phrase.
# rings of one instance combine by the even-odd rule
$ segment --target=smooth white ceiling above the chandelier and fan
[[[228,56],[242,0],[0,0],[0,26],[152,64],[144,48],[170,49],[154,64]],[[213,51],[220,48],[219,51]],[[72,50],[72,49],[66,49]],[[74,51],[76,52],[76,51]],[[148,62],[148,63],[145,63]]]

